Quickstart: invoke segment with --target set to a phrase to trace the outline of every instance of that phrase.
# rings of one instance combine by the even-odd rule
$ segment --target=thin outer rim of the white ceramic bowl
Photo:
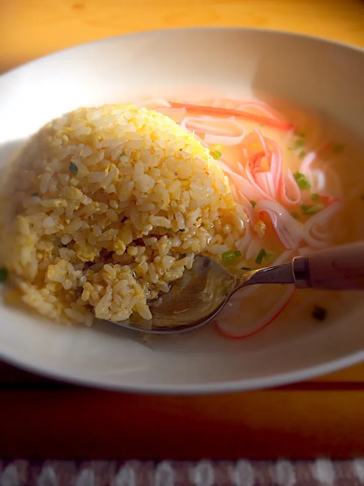
[[[203,32],[203,31],[232,31],[232,32],[251,32],[254,34],[269,34],[277,37],[298,37],[302,40],[306,39],[321,44],[329,44],[332,46],[337,46],[339,48],[349,49],[356,51],[364,56],[364,47],[355,46],[346,42],[336,41],[335,39],[319,37],[316,35],[305,34],[301,32],[293,32],[289,30],[282,29],[269,29],[269,28],[255,28],[255,27],[229,27],[229,26],[202,26],[202,27],[180,27],[180,28],[170,28],[170,29],[156,29],[156,30],[146,30],[141,32],[132,32],[121,35],[114,35],[110,37],[104,37],[96,39],[95,41],[90,41],[82,44],[77,44],[65,49],[60,49],[50,54],[32,59],[27,61],[20,66],[11,68],[0,74],[0,80],[4,77],[11,76],[13,73],[21,72],[28,66],[36,65],[39,62],[50,60],[68,52],[74,52],[77,50],[82,50],[86,46],[107,44],[121,39],[129,38],[140,38],[149,36],[168,36],[174,33],[182,32]],[[88,386],[92,388],[122,391],[127,393],[135,394],[156,394],[156,395],[205,395],[205,394],[220,394],[220,393],[232,393],[248,390],[258,390],[266,389],[272,387],[280,387],[289,385],[295,382],[304,381],[307,379],[312,379],[317,376],[326,375],[339,371],[341,369],[350,367],[364,360],[364,349],[357,351],[355,353],[346,354],[341,358],[326,361],[320,365],[315,365],[311,367],[305,367],[299,370],[291,371],[288,373],[279,373],[276,375],[266,376],[262,378],[249,378],[241,379],[227,382],[211,382],[205,384],[116,384],[116,383],[103,383],[101,379],[93,377],[85,377],[79,373],[71,374],[62,373],[55,369],[42,369],[37,365],[32,365],[32,363],[22,358],[7,355],[4,352],[0,352],[0,358],[12,366],[21,368],[24,371],[43,376],[55,381],[75,384],[81,386]]]

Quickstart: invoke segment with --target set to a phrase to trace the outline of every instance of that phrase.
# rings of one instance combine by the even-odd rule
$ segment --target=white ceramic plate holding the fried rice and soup
[[[364,51],[248,29],[191,29],[105,39],[0,77],[2,167],[41,125],[81,105],[192,88],[249,97],[268,92],[327,112],[364,139]],[[360,174],[361,176],[361,174]],[[362,300],[362,299],[361,299]],[[142,344],[110,324],[71,329],[0,307],[4,359],[59,379],[120,390],[206,393],[286,384],[364,358],[364,305],[317,326],[294,306],[248,340],[212,327]]]

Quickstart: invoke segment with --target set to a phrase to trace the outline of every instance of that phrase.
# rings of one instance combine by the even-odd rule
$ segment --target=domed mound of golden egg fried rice
[[[0,259],[22,299],[91,325],[168,292],[194,256],[235,250],[245,213],[209,151],[132,105],[80,108],[45,125],[5,178]]]

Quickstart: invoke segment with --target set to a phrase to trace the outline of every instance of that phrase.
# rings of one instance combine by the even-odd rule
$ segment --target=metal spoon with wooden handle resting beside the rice
[[[152,301],[151,320],[132,314],[113,322],[143,333],[193,331],[213,319],[239,289],[255,284],[291,284],[298,289],[364,289],[364,241],[295,257],[289,263],[231,275],[218,263],[197,256],[191,270],[167,294]]]

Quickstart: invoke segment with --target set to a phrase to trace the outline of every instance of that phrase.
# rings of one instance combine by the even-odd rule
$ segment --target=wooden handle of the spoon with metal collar
[[[364,241],[295,257],[292,267],[299,289],[364,289]]]

